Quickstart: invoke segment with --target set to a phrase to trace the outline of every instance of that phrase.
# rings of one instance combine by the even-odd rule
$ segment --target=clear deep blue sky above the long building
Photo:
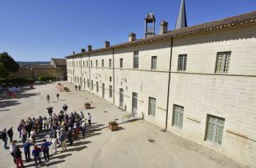
[[[174,30],[181,0],[0,0],[0,52],[16,61],[50,61],[102,48],[144,34],[144,18],[152,11],[159,23]],[[188,26],[256,10],[256,0],[186,0]],[[87,50],[87,49],[86,49]]]

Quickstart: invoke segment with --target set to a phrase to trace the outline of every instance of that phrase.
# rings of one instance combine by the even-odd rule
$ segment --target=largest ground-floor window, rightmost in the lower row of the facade
[[[208,115],[207,121],[206,140],[214,144],[222,145],[225,119]]]

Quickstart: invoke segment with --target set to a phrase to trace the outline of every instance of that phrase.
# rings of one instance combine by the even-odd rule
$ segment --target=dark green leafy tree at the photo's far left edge
[[[19,65],[7,52],[0,53],[0,77],[7,78],[9,72],[18,72]]]

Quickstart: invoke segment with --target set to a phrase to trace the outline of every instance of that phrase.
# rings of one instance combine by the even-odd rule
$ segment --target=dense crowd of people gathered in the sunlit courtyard
[[[47,98],[48,101],[48,98]],[[18,167],[24,167],[22,162],[22,152],[19,149],[23,147],[26,162],[30,162],[30,147],[33,147],[32,156],[34,156],[35,166],[41,166],[41,154],[45,160],[50,159],[49,146],[52,146],[54,154],[58,153],[58,144],[61,145],[61,152],[66,151],[66,139],[68,139],[69,145],[72,146],[74,139],[78,138],[78,135],[82,133],[82,137],[86,135],[86,121],[90,126],[91,115],[76,111],[66,114],[68,106],[66,104],[62,107],[62,110],[55,114],[53,107],[48,107],[48,117],[39,116],[39,118],[30,118],[26,120],[22,119],[18,124],[18,134],[22,142],[22,146],[17,144],[17,141],[13,140],[13,127],[9,130],[4,129],[2,131],[2,141],[4,142],[4,148],[7,148],[7,140],[10,138],[10,154],[14,158],[14,163]],[[49,135],[50,141],[45,138],[45,134]],[[43,137],[42,137],[43,136]],[[43,138],[40,140],[40,138]]]

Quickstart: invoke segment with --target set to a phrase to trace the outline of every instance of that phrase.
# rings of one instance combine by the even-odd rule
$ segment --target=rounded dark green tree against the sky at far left
[[[9,72],[18,72],[18,63],[15,62],[14,58],[12,58],[7,52],[0,53],[0,63],[2,63],[3,68],[7,71],[8,74]]]

